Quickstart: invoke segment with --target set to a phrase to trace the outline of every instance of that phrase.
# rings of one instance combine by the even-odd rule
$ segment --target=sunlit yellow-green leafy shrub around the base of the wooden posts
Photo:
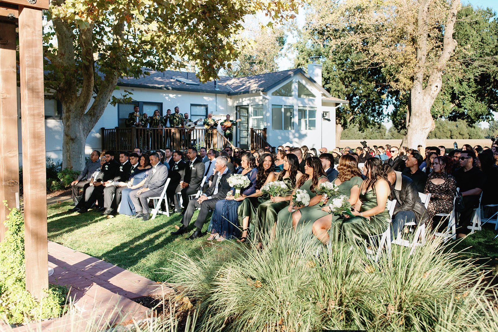
[[[59,317],[63,313],[67,290],[49,286],[42,299],[26,291],[24,262],[24,220],[17,209],[11,209],[4,239],[0,242],[0,319],[20,324],[43,318]],[[47,271],[48,273],[48,271]]]

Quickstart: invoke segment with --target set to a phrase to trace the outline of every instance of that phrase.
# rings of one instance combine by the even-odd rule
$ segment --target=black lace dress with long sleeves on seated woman
[[[440,185],[434,184],[431,180],[442,179]],[[427,207],[427,213],[432,219],[438,213],[450,213],[453,210],[453,198],[457,190],[457,181],[446,172],[432,172],[425,183],[424,194],[431,194],[431,200]]]

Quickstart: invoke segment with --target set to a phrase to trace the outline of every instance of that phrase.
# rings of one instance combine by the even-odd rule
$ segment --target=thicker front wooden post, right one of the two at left
[[[19,7],[26,290],[48,288],[47,189],[41,10]]]

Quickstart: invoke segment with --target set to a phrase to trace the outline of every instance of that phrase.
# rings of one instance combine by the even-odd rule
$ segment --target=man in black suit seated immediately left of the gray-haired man
[[[180,182],[180,193],[183,202],[183,212],[187,209],[187,204],[189,201],[189,195],[194,195],[199,189],[201,189],[202,178],[204,177],[204,163],[201,159],[197,158],[197,149],[191,147],[187,150],[188,164],[185,168],[185,175],[183,177],[183,182]],[[178,189],[178,188],[176,188]],[[175,209],[179,209],[177,206],[177,198],[175,195]]]

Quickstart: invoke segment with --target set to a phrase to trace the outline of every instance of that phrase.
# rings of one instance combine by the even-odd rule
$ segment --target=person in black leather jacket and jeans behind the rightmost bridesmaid
[[[382,165],[382,169],[391,184],[391,200],[396,200],[391,223],[391,239],[394,239],[405,223],[414,221],[417,225],[423,225],[429,220],[429,215],[409,177],[395,172],[387,164]]]

